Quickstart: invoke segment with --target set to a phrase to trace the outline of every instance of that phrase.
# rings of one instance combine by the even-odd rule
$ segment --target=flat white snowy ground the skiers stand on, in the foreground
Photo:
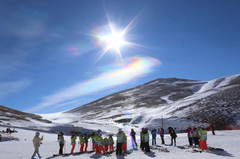
[[[5,130],[6,127],[0,127],[0,130]],[[0,142],[0,158],[1,159],[30,159],[34,151],[32,139],[35,135],[35,131],[16,129],[18,132],[10,135],[2,134],[4,140],[14,138],[14,140]],[[129,134],[129,132],[125,132]],[[139,135],[139,133],[137,133]],[[52,158],[53,154],[58,153],[58,142],[57,134],[42,133],[40,136],[44,136],[43,144],[40,147],[40,154],[43,159]],[[133,151],[131,154],[123,157],[117,157],[115,153],[111,156],[102,156],[95,153],[81,154],[77,156],[66,156],[66,157],[54,157],[54,159],[149,159],[149,158],[167,158],[167,159],[225,159],[225,158],[240,158],[240,131],[216,131],[216,135],[213,136],[208,133],[208,146],[215,148],[222,148],[225,151],[206,151],[203,153],[193,153],[191,148],[185,148],[188,144],[187,134],[181,133],[177,137],[177,146],[167,146],[160,144],[160,137],[157,136],[157,145],[167,148],[170,152],[162,152],[159,150],[151,150],[150,153],[144,153],[141,150]],[[130,146],[130,137],[128,137],[128,149]],[[66,145],[64,151],[69,153],[71,149],[70,136],[65,136]],[[139,143],[139,136],[137,136],[137,142]],[[170,136],[165,135],[166,144],[170,143]],[[151,144],[151,142],[150,142]],[[91,150],[91,144],[89,143],[88,150]],[[79,151],[79,146],[76,145],[75,152]],[[38,158],[38,157],[36,157]]]

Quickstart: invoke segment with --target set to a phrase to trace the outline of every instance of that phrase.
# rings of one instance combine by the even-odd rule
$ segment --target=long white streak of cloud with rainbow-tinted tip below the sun
[[[154,67],[160,65],[158,59],[151,57],[132,57],[128,58],[125,65],[115,64],[98,76],[85,82],[77,83],[71,87],[63,88],[55,93],[43,98],[43,102],[27,109],[28,112],[37,112],[39,110],[60,105],[66,101],[70,101],[91,93],[96,93],[105,89],[125,84],[147,75],[152,72]]]

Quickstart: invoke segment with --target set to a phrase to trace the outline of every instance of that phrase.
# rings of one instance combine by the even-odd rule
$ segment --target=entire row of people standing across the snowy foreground
[[[168,127],[168,131],[171,137],[171,144],[170,146],[174,145],[176,146],[176,138],[177,134],[175,132],[176,128]],[[160,134],[160,138],[162,141],[162,144],[165,144],[164,141],[164,129],[152,129],[151,135],[152,135],[152,145],[156,145],[156,137],[157,134]],[[59,142],[59,154],[63,154],[63,147],[64,147],[64,133],[60,132],[58,134],[58,142]],[[132,148],[137,148],[138,144],[136,142],[136,132],[131,129],[130,132],[131,141],[132,141]],[[197,127],[191,127],[189,126],[187,129],[187,136],[188,136],[188,142],[189,146],[199,146],[200,149],[207,150],[207,129],[203,126]],[[83,132],[79,135],[79,143],[80,143],[80,150],[79,152],[86,152],[88,148],[88,140],[92,139],[92,150],[95,151],[97,154],[106,154],[107,152],[113,152],[114,151],[114,140],[113,135],[109,134],[108,137],[102,137],[101,130],[98,130],[93,133],[87,133]],[[116,154],[117,155],[123,155],[127,152],[127,135],[123,132],[122,129],[118,130],[118,133],[116,135]],[[41,141],[43,140],[43,136],[40,138],[40,133],[36,132],[35,137],[33,139],[33,144],[35,151],[32,155],[32,159],[34,159],[35,155],[37,154],[39,158],[41,158],[39,154],[39,147],[41,144]],[[71,154],[74,153],[75,145],[77,136],[75,134],[72,134],[70,137],[71,140]],[[1,141],[1,136],[0,136]],[[147,128],[142,128],[142,131],[140,132],[140,148],[142,151],[150,152],[150,146],[149,146],[149,133]]]

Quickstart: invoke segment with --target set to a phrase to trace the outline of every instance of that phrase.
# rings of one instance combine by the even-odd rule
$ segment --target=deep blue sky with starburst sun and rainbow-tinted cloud
[[[1,0],[0,105],[54,113],[158,78],[239,74],[239,7],[237,0]]]

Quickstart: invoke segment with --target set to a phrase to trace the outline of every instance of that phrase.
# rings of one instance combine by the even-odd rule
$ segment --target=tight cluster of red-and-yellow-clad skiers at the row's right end
[[[187,129],[187,136],[189,146],[199,146],[202,151],[207,150],[207,129],[203,126],[197,127],[188,127]]]

